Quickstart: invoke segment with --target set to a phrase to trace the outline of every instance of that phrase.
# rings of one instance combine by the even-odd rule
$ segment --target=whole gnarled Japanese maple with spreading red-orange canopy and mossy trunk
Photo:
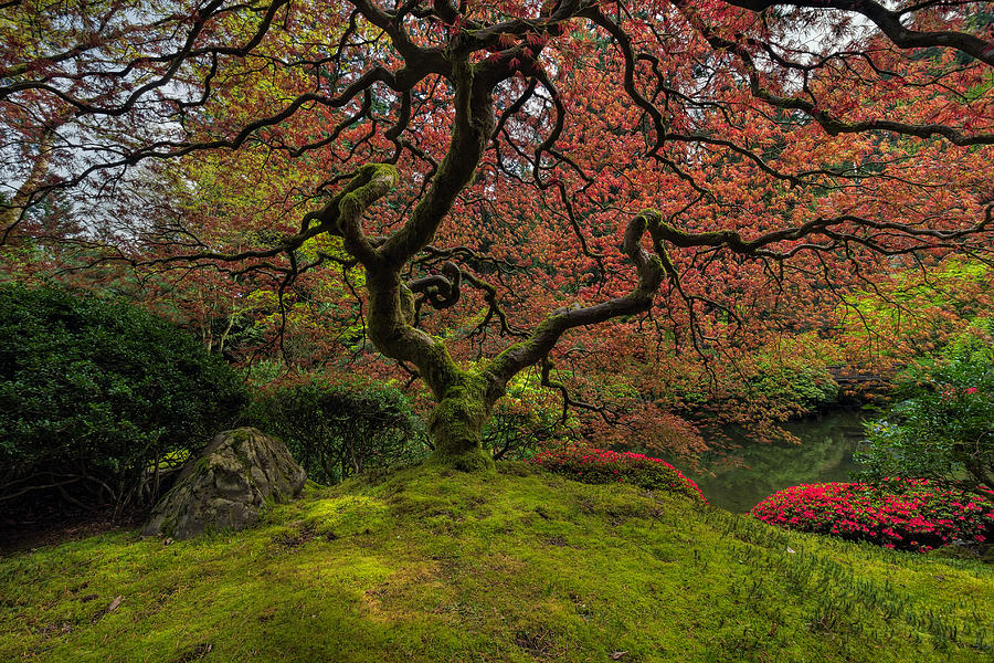
[[[596,356],[715,381],[881,272],[991,248],[988,2],[0,11],[4,242],[277,295],[361,274],[351,314],[459,467],[521,371],[591,411]],[[30,222],[56,192],[74,233]]]

